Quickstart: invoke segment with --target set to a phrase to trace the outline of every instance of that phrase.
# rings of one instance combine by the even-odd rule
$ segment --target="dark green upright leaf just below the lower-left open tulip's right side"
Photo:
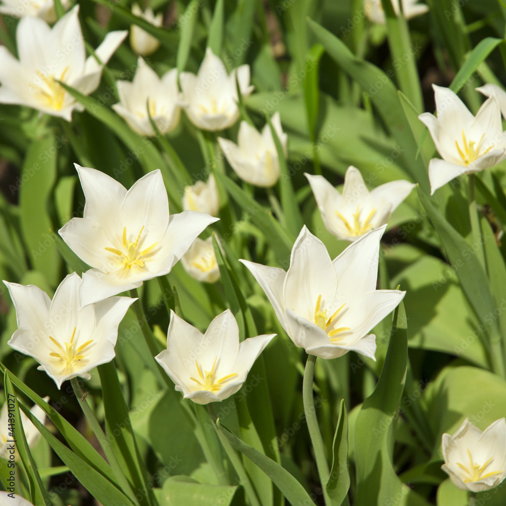
[[[148,482],[146,468],[139,454],[114,362],[99,365],[98,372],[102,385],[107,441],[110,442],[112,451],[134,490],[147,491],[152,500],[152,487],[146,486]],[[143,500],[139,502],[145,503]]]

